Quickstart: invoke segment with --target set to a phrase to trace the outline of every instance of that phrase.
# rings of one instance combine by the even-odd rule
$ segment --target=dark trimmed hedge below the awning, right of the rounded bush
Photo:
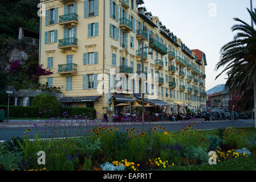
[[[72,108],[62,108],[62,113],[68,114],[70,117],[75,117],[76,107]],[[89,107],[78,107],[78,116],[81,115],[82,118],[87,117],[88,119],[96,118],[96,110]]]

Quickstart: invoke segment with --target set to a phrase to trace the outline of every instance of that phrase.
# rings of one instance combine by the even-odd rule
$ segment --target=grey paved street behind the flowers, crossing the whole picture
[[[113,123],[117,126],[119,131],[125,131],[125,129],[130,129],[131,127],[135,127],[136,131],[147,131],[148,123],[136,123],[136,124],[127,124],[127,123]],[[162,126],[165,128],[165,131],[179,131],[181,127],[186,127],[188,125],[193,126],[193,129],[199,129],[199,130],[210,130],[210,129],[218,129],[218,128],[226,128],[226,127],[254,127],[254,120],[248,119],[248,120],[238,120],[238,121],[210,121],[210,122],[197,122],[196,124],[191,123],[157,123],[152,122],[151,127],[154,127],[154,125]],[[84,129],[90,130],[95,126],[87,126]],[[75,127],[74,127],[75,128]],[[55,127],[56,129],[56,127]],[[69,128],[68,128],[69,129]],[[40,127],[38,127],[38,130],[42,130]],[[54,130],[53,127],[48,127],[47,129],[47,136],[42,135],[41,137],[46,138],[49,137],[51,132],[50,130]],[[64,131],[66,131],[67,128],[65,127],[58,127],[58,134],[63,135]],[[76,129],[74,129],[76,131]],[[24,132],[26,132],[26,128],[1,128],[0,129],[0,141],[3,140],[9,140],[16,137],[21,137],[24,135]],[[32,131],[30,131],[30,134],[34,136],[38,131],[32,127]],[[46,132],[42,132],[46,133]],[[74,132],[72,132],[72,135],[70,137],[74,137]],[[82,136],[82,135],[81,135]],[[79,134],[75,137],[79,137]]]

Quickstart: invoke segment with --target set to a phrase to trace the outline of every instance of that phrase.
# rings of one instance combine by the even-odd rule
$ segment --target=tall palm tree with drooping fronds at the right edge
[[[254,11],[247,9],[247,11],[253,23],[256,24],[256,9]],[[239,18],[234,18],[234,20],[239,24],[231,27],[231,31],[239,32],[232,41],[221,48],[221,57],[216,65],[216,71],[221,67],[225,68],[216,79],[227,72],[229,79],[226,82],[226,88],[229,88],[229,92],[236,90],[237,94],[242,94],[241,106],[247,105],[253,108],[252,93],[254,80],[256,81],[256,30]],[[254,95],[254,103],[256,103],[255,100]]]

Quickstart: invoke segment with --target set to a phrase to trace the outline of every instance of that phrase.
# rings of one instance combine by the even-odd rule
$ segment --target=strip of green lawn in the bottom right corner
[[[204,164],[194,166],[173,167],[165,169],[168,171],[255,171],[256,156],[248,158],[234,158],[224,162],[217,162],[216,165]]]

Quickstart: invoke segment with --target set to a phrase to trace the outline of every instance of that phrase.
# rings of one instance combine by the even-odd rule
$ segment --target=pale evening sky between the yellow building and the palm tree
[[[233,18],[249,23],[250,0],[144,0],[147,11],[160,21],[189,49],[200,49],[206,55],[206,90],[225,84],[227,75],[215,80],[224,69],[215,71],[220,60],[220,49],[233,40],[236,32],[230,28],[237,24]],[[256,7],[256,0],[253,0]]]

